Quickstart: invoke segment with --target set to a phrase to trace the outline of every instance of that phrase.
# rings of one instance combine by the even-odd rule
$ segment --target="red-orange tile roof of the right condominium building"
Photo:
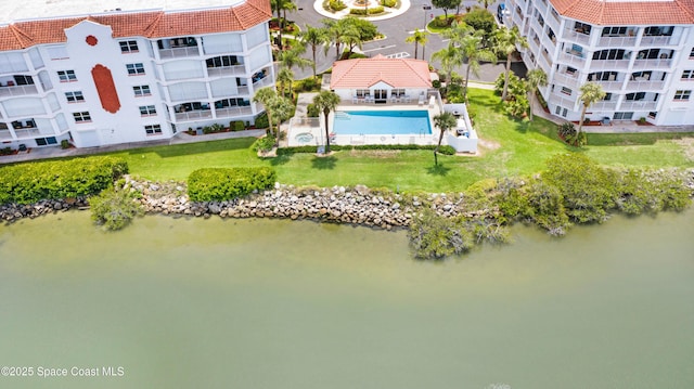
[[[603,26],[694,24],[694,0],[550,0],[556,11]]]

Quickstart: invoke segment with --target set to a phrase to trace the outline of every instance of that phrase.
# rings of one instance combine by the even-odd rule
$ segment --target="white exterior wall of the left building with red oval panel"
[[[113,38],[110,26],[89,21],[67,28],[65,35],[67,42],[63,44],[40,44],[0,53],[3,86],[16,75],[30,76],[34,80],[33,86],[0,88],[0,142],[4,143],[0,146],[60,145],[61,140],[72,139],[77,147],[90,147],[168,139],[176,134],[172,125],[180,132],[215,122],[224,126],[231,120],[253,122],[262,112],[261,105],[252,102],[255,90],[274,86],[267,23],[246,31],[185,36],[196,39],[197,46],[182,51],[159,50],[159,39]],[[88,36],[97,38],[95,46],[86,42]],[[123,53],[119,42],[130,40],[137,41],[139,50]],[[169,47],[169,38],[163,41],[165,48]],[[206,60],[220,55],[234,55],[241,64],[215,68],[215,72],[208,69]],[[98,64],[111,70],[120,103],[115,113],[102,107],[91,73]],[[127,64],[142,64],[144,74],[129,75]],[[74,70],[77,79],[61,81],[57,74],[61,70]],[[198,87],[193,89],[195,93],[187,90],[191,85]],[[132,89],[136,86],[149,86],[151,94],[136,96]],[[85,100],[68,102],[65,93],[76,91],[81,92]],[[236,104],[236,99],[244,105],[222,107],[220,103],[227,100]],[[209,109],[176,112],[177,106],[187,103]],[[149,105],[155,106],[156,114],[141,116],[139,107]],[[88,112],[91,120],[76,121],[73,114],[81,112]],[[13,121],[22,121],[24,127],[27,120],[35,125],[31,129],[12,126]],[[144,127],[155,125],[162,133],[147,134]],[[51,144],[46,144],[47,138]]]

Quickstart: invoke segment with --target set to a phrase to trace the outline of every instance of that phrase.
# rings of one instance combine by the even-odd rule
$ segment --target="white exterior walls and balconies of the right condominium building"
[[[589,36],[576,33],[576,22],[553,12],[549,0],[506,0],[509,13],[504,16],[507,26],[518,26],[527,37],[529,49],[523,50],[523,60],[530,69],[540,67],[548,74],[548,87],[540,90],[549,105],[551,114],[568,120],[579,120],[581,104],[580,86],[588,82],[589,75],[597,72],[617,72],[615,80],[600,80],[612,100],[596,103],[588,111],[587,117],[593,120],[609,117],[618,118],[615,113],[633,113],[631,120],[645,117],[647,121],[659,126],[694,125],[694,79],[682,80],[682,72],[694,70],[694,57],[690,52],[694,49],[694,26],[671,25],[674,27],[671,37],[663,37],[659,42],[650,42],[644,30],[652,25],[591,25]],[[540,16],[543,21],[540,23]],[[633,35],[624,37],[602,37],[603,27],[627,27]],[[653,26],[664,26],[663,24]],[[550,29],[554,39],[550,38]],[[660,38],[660,37],[658,37]],[[574,46],[582,48],[582,57],[573,55]],[[594,52],[611,49],[624,49],[630,56],[618,60],[592,60]],[[673,50],[671,59],[661,61],[643,61],[638,53],[646,49]],[[547,50],[547,51],[545,51]],[[576,69],[568,74],[567,66]],[[632,80],[638,72],[665,73],[664,80]],[[567,94],[567,90],[570,94]],[[673,101],[678,90],[692,90],[689,101]],[[647,95],[658,93],[657,101],[627,101],[628,93],[644,92]],[[653,118],[650,113],[655,112]]]

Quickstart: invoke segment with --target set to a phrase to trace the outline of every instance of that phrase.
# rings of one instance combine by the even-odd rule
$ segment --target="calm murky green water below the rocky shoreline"
[[[0,365],[124,368],[0,387],[694,387],[693,211],[514,233],[430,263],[312,222],[0,226]]]

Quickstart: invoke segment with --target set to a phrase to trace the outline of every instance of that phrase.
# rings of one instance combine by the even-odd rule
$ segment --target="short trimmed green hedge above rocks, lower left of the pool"
[[[271,187],[275,181],[274,170],[266,167],[198,169],[188,177],[188,196],[192,202],[222,202]]]

